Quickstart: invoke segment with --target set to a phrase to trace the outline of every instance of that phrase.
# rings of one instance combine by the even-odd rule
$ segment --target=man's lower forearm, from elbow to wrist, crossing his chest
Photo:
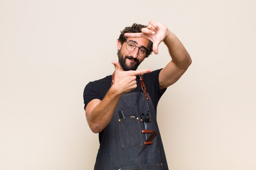
[[[110,123],[120,97],[121,94],[118,94],[114,88],[110,88],[103,100],[92,111],[86,113],[92,132],[99,133]]]

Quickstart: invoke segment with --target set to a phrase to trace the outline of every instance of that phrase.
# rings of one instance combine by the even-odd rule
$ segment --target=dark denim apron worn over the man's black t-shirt
[[[121,96],[112,120],[104,129],[94,170],[168,170],[162,139],[159,133],[153,102],[143,92],[130,92]],[[120,118],[122,110],[125,118]],[[146,129],[157,131],[153,144],[145,147],[151,133],[141,122],[141,113],[148,113],[151,122]],[[138,155],[141,152],[140,155]]]

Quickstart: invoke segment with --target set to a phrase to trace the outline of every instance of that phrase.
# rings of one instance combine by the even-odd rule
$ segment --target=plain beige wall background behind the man
[[[171,170],[256,169],[255,0],[0,0],[0,169],[93,169],[83,88],[119,31],[157,20],[193,60],[158,105]],[[139,69],[162,68],[164,44]]]

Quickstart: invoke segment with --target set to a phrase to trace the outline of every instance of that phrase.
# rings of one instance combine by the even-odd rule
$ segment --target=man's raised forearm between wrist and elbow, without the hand
[[[168,30],[168,34],[164,39],[164,43],[168,47],[172,61],[182,69],[187,69],[191,64],[191,58],[181,41]]]

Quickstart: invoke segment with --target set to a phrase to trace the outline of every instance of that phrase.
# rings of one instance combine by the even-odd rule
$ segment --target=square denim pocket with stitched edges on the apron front
[[[142,146],[139,118],[118,119],[121,148]]]

